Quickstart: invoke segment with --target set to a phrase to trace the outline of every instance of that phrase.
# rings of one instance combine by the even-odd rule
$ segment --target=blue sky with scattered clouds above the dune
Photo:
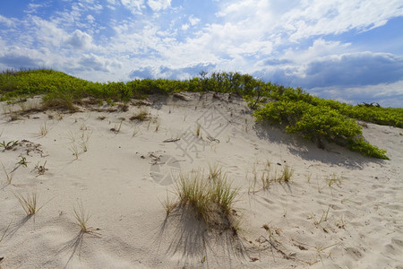
[[[0,70],[96,82],[252,74],[403,107],[401,0],[3,0]]]

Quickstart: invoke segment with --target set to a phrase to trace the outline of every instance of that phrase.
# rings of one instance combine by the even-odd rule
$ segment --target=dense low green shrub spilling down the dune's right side
[[[302,134],[306,140],[338,143],[365,156],[388,159],[386,151],[364,141],[362,127],[330,107],[313,106],[302,100],[271,102],[253,114],[258,120],[286,126],[287,134]]]

